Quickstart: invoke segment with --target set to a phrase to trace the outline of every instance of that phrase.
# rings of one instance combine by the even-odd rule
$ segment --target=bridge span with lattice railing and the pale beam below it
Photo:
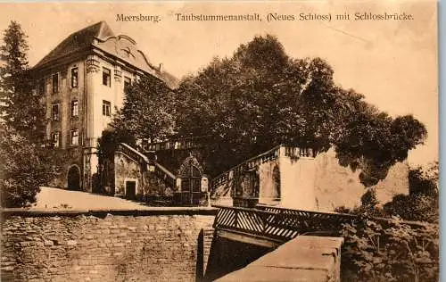
[[[345,223],[358,216],[335,212],[300,211],[267,205],[241,208],[215,205],[217,236],[252,245],[277,247],[300,235],[337,236]]]

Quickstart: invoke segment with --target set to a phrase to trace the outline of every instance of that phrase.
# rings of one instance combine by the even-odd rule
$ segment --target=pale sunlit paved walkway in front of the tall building
[[[152,207],[148,207],[143,203],[136,203],[118,197],[42,187],[40,193],[37,195],[37,203],[31,210],[145,210],[151,208]]]

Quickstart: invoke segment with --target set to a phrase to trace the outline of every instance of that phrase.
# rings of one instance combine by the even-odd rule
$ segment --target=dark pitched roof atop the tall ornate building
[[[80,29],[74,33],[71,33],[70,36],[66,37],[61,44],[53,49],[53,51],[45,55],[40,62],[37,62],[34,69],[37,69],[47,62],[59,59],[67,54],[72,54],[86,49],[93,44],[93,39],[95,37],[105,38],[111,36],[114,36],[114,33],[105,21],[99,21],[85,29]]]

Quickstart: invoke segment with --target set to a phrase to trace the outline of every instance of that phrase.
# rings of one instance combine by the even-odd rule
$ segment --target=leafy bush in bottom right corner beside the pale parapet
[[[399,220],[343,225],[342,281],[438,281],[438,226]]]

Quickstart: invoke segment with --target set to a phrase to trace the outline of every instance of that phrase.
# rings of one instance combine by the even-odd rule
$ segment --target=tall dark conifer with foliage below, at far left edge
[[[59,158],[45,140],[45,107],[32,91],[26,35],[12,21],[0,46],[0,192],[3,207],[36,201],[40,186],[56,176]]]

